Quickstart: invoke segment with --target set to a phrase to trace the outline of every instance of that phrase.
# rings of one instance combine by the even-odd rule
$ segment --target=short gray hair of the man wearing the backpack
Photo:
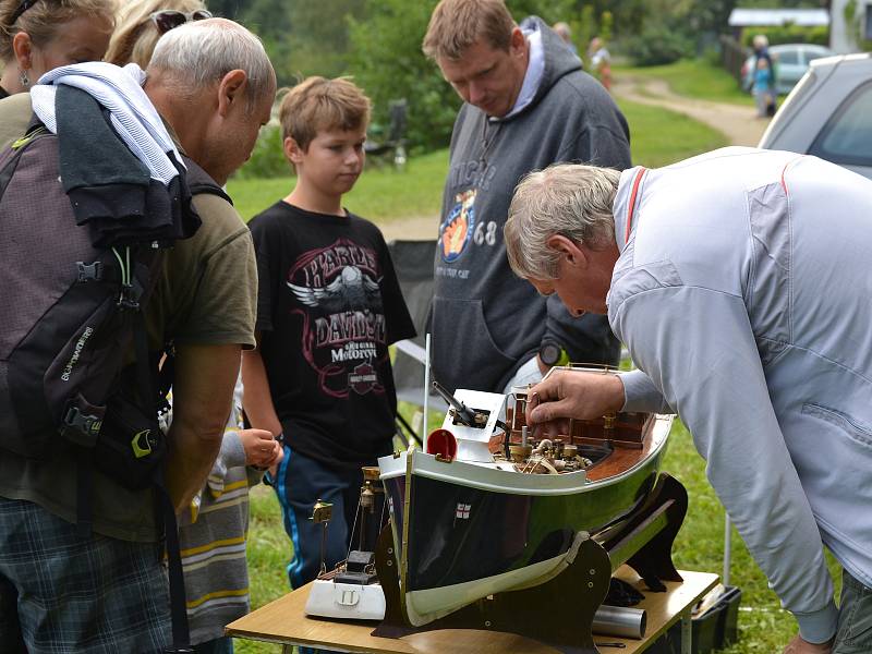
[[[247,76],[247,108],[275,92],[276,73],[261,39],[227,19],[192,21],[160,37],[148,70],[166,71],[192,94],[233,70]]]

